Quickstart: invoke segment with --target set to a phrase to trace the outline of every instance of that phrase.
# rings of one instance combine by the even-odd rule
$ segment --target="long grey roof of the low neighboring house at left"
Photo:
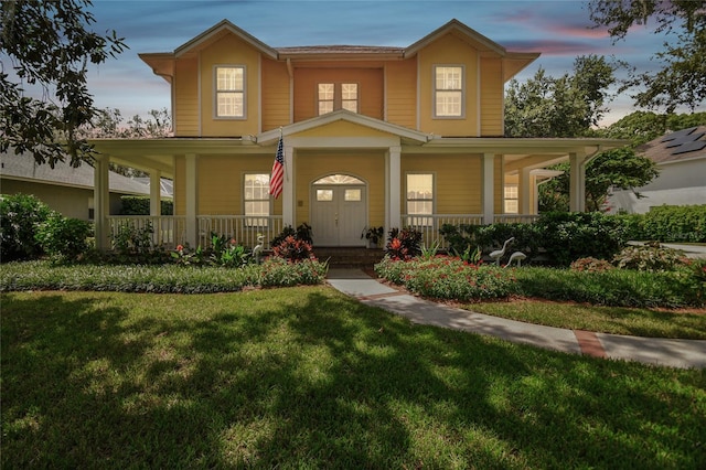
[[[56,162],[52,169],[49,164],[36,164],[34,157],[29,153],[0,153],[0,175],[2,179],[93,190],[94,172],[94,168],[85,162],[78,168],[73,168],[66,161]],[[150,194],[148,185],[114,171],[108,173],[108,180],[113,193]],[[162,193],[162,196],[171,195]]]

